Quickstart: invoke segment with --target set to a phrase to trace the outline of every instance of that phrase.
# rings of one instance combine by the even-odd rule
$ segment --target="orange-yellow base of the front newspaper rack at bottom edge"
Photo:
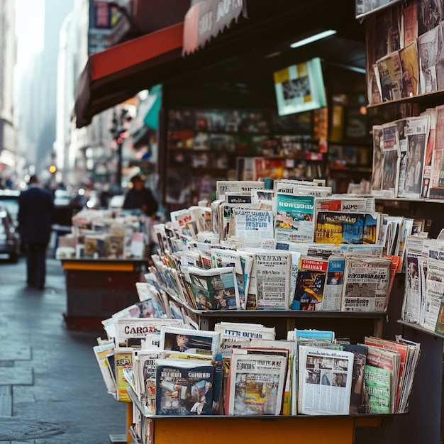
[[[226,444],[235,436],[236,442],[268,444],[277,436],[284,442],[316,444],[353,444],[358,427],[381,427],[392,421],[393,414],[361,414],[334,416],[156,416],[127,389],[132,404],[150,421],[153,444]],[[227,431],[230,434],[227,435]]]

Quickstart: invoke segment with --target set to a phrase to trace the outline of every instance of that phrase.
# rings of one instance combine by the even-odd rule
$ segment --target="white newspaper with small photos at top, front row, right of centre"
[[[301,414],[349,414],[353,360],[350,352],[299,346]]]

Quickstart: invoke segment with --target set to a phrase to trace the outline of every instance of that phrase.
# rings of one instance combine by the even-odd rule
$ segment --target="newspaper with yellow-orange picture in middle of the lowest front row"
[[[228,415],[279,415],[287,357],[234,349],[228,376]]]

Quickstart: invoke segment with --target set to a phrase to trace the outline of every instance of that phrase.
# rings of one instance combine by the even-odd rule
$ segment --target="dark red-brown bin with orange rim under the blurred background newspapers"
[[[103,328],[101,321],[139,301],[146,259],[63,259],[67,290],[64,318],[72,329]]]

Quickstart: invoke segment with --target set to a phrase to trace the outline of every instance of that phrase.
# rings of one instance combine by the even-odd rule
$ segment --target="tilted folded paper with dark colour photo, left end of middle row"
[[[189,282],[196,307],[211,310],[240,309],[238,283],[234,267],[201,270],[189,267]]]

